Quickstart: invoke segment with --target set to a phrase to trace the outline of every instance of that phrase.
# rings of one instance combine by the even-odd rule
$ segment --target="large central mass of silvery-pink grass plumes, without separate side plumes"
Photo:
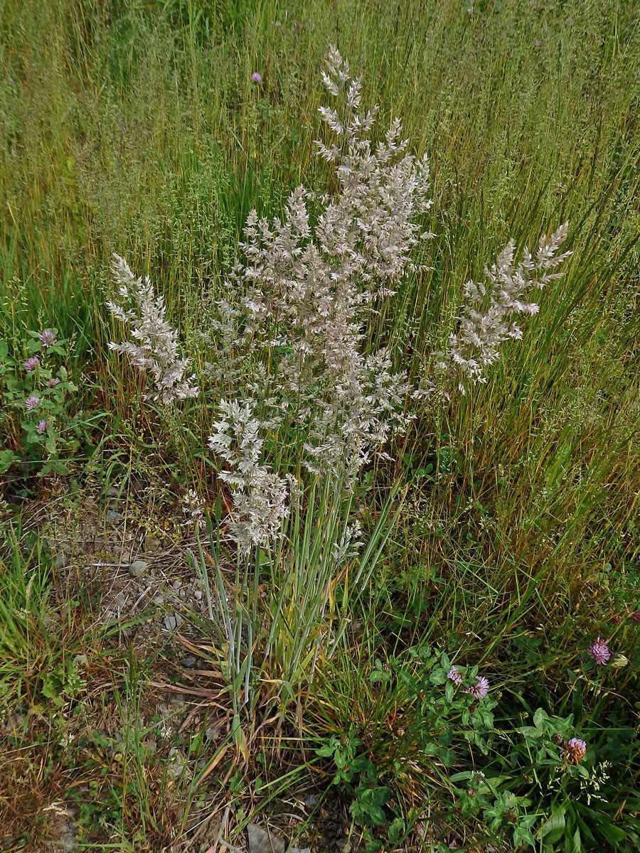
[[[377,108],[359,113],[361,81],[335,48],[323,81],[336,106],[320,113],[336,142],[317,147],[337,189],[322,201],[315,228],[308,203],[317,199],[303,187],[282,219],[249,214],[230,299],[218,303],[208,340],[224,340],[223,367],[211,368],[218,381],[244,370],[261,418],[304,437],[302,464],[350,485],[409,421],[406,375],[393,373],[386,351],[365,356],[362,334],[376,301],[414,268],[416,244],[432,236],[418,221],[431,206],[430,183],[428,160],[407,152],[399,120],[384,142],[369,138]],[[242,362],[241,353],[251,359]]]

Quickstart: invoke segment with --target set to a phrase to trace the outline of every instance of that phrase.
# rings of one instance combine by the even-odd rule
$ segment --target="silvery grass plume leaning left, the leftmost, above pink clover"
[[[162,296],[155,296],[148,276],[144,280],[133,276],[125,258],[114,254],[112,270],[120,299],[123,303],[132,301],[134,307],[125,310],[116,302],[108,302],[107,306],[117,320],[129,324],[133,341],[123,344],[110,341],[109,349],[124,353],[134,367],[151,374],[154,392],[146,394],[144,399],[170,404],[185,397],[197,397],[195,376],[184,376],[190,359],[178,355],[177,331],[166,322]]]

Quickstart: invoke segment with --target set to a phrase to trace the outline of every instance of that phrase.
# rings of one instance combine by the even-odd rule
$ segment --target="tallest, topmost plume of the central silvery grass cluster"
[[[386,142],[374,146],[369,133],[378,107],[358,112],[362,78],[352,77],[348,62],[333,46],[326,66],[323,84],[337,108],[320,107],[320,114],[339,144],[316,144],[323,159],[335,166],[340,186],[320,217],[317,241],[341,276],[358,276],[361,298],[393,295],[404,271],[413,268],[413,248],[433,237],[416,221],[433,204],[428,156],[418,159],[408,153],[409,140],[401,138],[397,118]]]

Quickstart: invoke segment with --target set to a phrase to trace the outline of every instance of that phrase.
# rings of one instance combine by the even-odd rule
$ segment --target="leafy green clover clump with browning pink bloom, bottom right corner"
[[[613,779],[618,763],[633,772],[631,729],[602,728],[589,717],[579,725],[573,714],[538,708],[532,724],[496,734],[481,774],[451,776],[457,808],[484,822],[490,837],[543,850],[583,850],[583,842],[627,850],[640,838],[632,817],[638,799],[627,809],[626,800],[616,804]]]

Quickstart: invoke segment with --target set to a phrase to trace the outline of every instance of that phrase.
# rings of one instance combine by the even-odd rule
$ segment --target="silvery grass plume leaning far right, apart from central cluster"
[[[468,281],[465,285],[466,303],[458,317],[458,329],[449,336],[444,360],[439,363],[446,373],[457,376],[463,393],[463,379],[486,382],[483,368],[497,360],[500,345],[505,340],[521,339],[522,330],[513,316],[538,314],[538,305],[531,300],[532,289],[542,290],[549,281],[562,276],[557,267],[571,252],[557,252],[567,238],[567,228],[568,223],[561,225],[549,241],[542,237],[535,255],[525,249],[517,266],[515,243],[509,241],[496,263],[485,268],[486,281]]]

